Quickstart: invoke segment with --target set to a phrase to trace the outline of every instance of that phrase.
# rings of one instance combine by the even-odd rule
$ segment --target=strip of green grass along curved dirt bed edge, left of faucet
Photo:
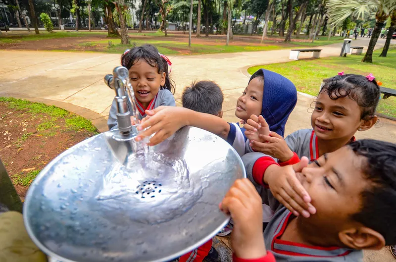
[[[98,133],[96,127],[91,123],[91,121],[81,117],[79,115],[70,113],[62,108],[56,107],[54,105],[45,105],[42,103],[30,102],[27,100],[15,99],[15,98],[4,98],[0,97],[0,103],[8,103],[8,107],[11,109],[24,110],[31,113],[45,113],[52,117],[51,120],[43,122],[37,126],[37,130],[47,130],[55,126],[55,121],[58,118],[64,118],[66,122],[66,127],[72,130],[85,129],[90,132]],[[26,140],[24,138],[26,134],[23,134],[17,143],[21,144]]]

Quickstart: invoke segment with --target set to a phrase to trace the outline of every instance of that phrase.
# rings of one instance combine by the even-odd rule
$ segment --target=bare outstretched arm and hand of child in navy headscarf
[[[230,132],[230,125],[222,118],[183,107],[159,106],[153,110],[146,110],[146,114],[148,117],[138,126],[138,131],[149,128],[139,133],[136,140],[140,141],[156,133],[150,139],[150,146],[161,143],[186,125],[207,130],[223,139],[227,139]]]

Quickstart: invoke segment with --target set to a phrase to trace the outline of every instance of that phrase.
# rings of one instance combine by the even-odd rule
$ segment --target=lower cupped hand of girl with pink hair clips
[[[281,162],[286,162],[293,157],[293,152],[285,139],[276,132],[270,132],[269,136],[259,134],[259,138],[259,140],[249,139],[249,145],[254,151],[278,158]],[[262,141],[266,142],[263,143]]]

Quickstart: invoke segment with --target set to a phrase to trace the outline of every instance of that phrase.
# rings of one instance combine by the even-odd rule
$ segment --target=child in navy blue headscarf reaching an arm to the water
[[[247,121],[252,114],[261,114],[267,119],[269,128],[283,136],[286,121],[297,103],[296,87],[280,74],[259,69],[255,72],[237,101],[235,115]],[[150,145],[156,145],[185,125],[208,130],[227,140],[240,156],[245,154],[244,129],[237,123],[227,123],[219,117],[198,113],[186,108],[156,108],[148,111],[150,118],[141,123],[138,130],[151,128],[138,135],[137,140],[156,132]]]

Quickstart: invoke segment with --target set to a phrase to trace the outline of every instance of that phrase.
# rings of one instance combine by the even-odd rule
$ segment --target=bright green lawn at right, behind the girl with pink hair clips
[[[396,89],[396,45],[392,45],[387,57],[379,57],[382,50],[373,54],[374,62],[363,63],[362,55],[348,55],[347,57],[328,57],[320,59],[298,60],[287,63],[276,63],[250,67],[247,71],[252,74],[259,68],[277,72],[289,78],[297,90],[316,96],[323,79],[337,75],[338,72],[368,75],[372,73],[382,86]],[[396,117],[396,98],[381,99],[378,112]]]

